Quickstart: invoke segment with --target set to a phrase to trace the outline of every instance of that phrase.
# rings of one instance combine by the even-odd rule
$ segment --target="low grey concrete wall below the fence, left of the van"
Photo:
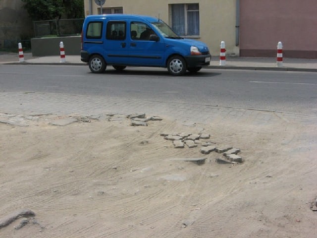
[[[32,56],[59,56],[59,43],[63,42],[65,55],[80,55],[80,36],[33,38],[31,39]]]

